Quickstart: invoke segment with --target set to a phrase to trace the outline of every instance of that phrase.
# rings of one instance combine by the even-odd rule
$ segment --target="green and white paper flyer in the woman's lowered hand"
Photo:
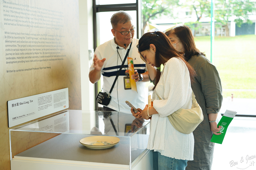
[[[236,115],[236,111],[226,110],[226,112],[221,117],[220,122],[217,125],[217,127],[219,127],[219,126],[221,127],[220,132],[217,132],[217,133],[222,133],[222,134],[221,135],[214,135],[213,134],[211,142],[214,142],[214,143],[217,143],[217,144],[222,144],[223,139],[224,139],[224,137],[226,135],[226,132],[227,132],[227,129],[228,129],[228,125],[233,120],[235,115]]]

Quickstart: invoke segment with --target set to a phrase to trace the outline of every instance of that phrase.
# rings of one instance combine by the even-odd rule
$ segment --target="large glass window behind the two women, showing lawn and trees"
[[[145,1],[146,2],[146,1]],[[143,10],[150,11],[142,1]],[[173,1],[174,2],[174,1]],[[238,5],[237,5],[238,3]],[[242,4],[241,4],[242,3]],[[251,3],[247,5],[246,3]],[[151,4],[153,5],[153,3]],[[163,6],[158,4],[158,6]],[[202,7],[204,6],[204,8]],[[226,6],[226,11],[223,10]],[[241,115],[256,115],[256,12],[255,2],[215,1],[214,36],[211,55],[211,1],[187,1],[170,4],[162,13],[151,16],[142,26],[144,33],[165,32],[177,24],[185,24],[194,34],[196,47],[216,66],[223,88],[223,103],[220,113],[227,109]],[[154,6],[156,8],[156,6]],[[239,8],[239,10],[237,10]],[[154,9],[157,11],[156,9]],[[147,14],[148,11],[142,11]],[[158,10],[159,11],[159,10]],[[152,11],[154,12],[154,11]],[[142,16],[147,18],[148,16]]]

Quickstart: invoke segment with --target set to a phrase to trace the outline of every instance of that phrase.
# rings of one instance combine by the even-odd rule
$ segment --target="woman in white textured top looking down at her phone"
[[[187,161],[193,160],[194,136],[174,129],[167,116],[180,108],[191,108],[190,82],[195,71],[162,32],[145,33],[137,47],[141,58],[153,66],[148,71],[150,79],[156,78],[155,100],[153,106],[138,108],[140,112],[136,114],[131,109],[132,114],[136,118],[151,118],[148,149],[155,151],[154,170],[185,170]],[[162,64],[164,68],[160,70]]]

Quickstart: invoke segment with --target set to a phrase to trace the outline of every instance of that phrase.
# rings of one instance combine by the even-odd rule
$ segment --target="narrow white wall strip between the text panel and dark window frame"
[[[93,49],[92,0],[79,0],[82,110],[94,110],[94,84],[89,80],[89,50]]]

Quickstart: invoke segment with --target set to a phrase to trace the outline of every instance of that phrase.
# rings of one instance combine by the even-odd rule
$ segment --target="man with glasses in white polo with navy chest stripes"
[[[137,92],[129,89],[127,83],[127,74],[129,73],[127,59],[124,63],[120,75],[110,94],[111,100],[108,106],[104,106],[105,111],[120,111],[131,113],[130,107],[125,103],[129,101],[136,108],[145,107],[147,94],[145,94],[145,82],[149,81],[145,62],[140,58],[136,48],[139,40],[133,38],[135,27],[132,24],[131,16],[124,12],[116,12],[110,19],[114,38],[101,44],[95,50],[92,66],[90,67],[89,78],[92,83],[100,80],[103,75],[103,92],[109,93],[116,73],[120,69],[125,55],[130,48],[128,57],[133,58],[134,72],[132,79],[135,79]],[[125,71],[126,70],[126,71]],[[126,79],[125,79],[126,78]]]

